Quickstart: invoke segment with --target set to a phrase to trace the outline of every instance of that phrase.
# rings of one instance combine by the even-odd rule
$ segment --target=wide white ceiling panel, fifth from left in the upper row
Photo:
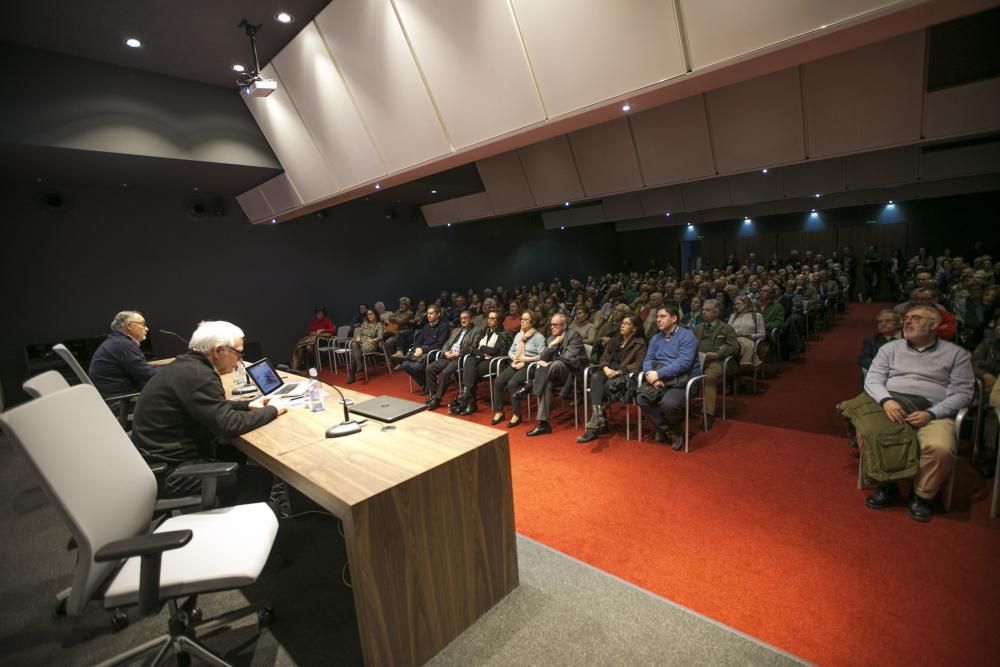
[[[671,0],[512,5],[550,118],[685,71]]]

